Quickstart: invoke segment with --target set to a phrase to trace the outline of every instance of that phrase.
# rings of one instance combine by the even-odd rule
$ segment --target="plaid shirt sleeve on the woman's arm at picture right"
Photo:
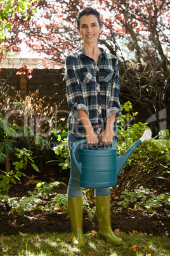
[[[119,120],[121,118],[121,104],[119,102],[119,86],[120,86],[120,79],[119,79],[119,60],[116,60],[115,64],[115,72],[112,78],[112,90],[110,94],[110,100],[108,102],[107,108],[107,118],[110,115],[116,114],[115,120]]]

